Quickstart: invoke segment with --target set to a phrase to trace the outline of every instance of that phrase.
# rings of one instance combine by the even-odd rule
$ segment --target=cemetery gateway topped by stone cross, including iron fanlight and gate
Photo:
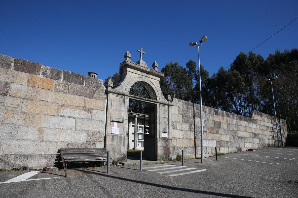
[[[142,48],[139,51],[142,53]],[[156,62],[153,62],[153,69],[150,69],[141,56],[136,63],[131,61],[129,52],[125,53],[124,58],[125,60],[120,64],[119,79],[115,84],[109,79],[106,86],[107,116],[104,147],[111,152],[113,160],[126,161],[127,149],[132,139],[129,139],[128,135],[129,117],[132,114],[135,117],[139,116],[136,112],[129,111],[129,100],[133,99],[150,104],[148,111],[142,112],[143,120],[149,121],[147,124],[143,123],[144,141],[140,140],[140,144],[143,143],[144,146],[144,156],[151,153],[151,156],[147,154],[148,159],[170,160],[173,154],[171,134],[173,105],[170,96],[167,96],[167,99],[164,98],[159,85],[164,74],[158,71]],[[148,129],[148,138],[145,138],[145,126]],[[136,128],[136,130],[139,129]],[[134,137],[135,135],[138,135],[138,132],[134,133]],[[133,145],[135,149],[139,146],[137,138],[134,138],[136,139]]]

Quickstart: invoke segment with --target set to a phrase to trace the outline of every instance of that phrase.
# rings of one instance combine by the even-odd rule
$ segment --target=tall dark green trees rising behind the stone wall
[[[170,62],[161,72],[164,73],[160,81],[164,96],[169,94],[178,99],[200,103],[199,72],[195,61],[189,60],[185,68],[177,62]],[[211,76],[201,65],[202,104],[247,117],[254,110],[274,115],[271,84],[264,80],[274,76],[278,77],[273,81],[277,117],[287,121],[290,132],[297,131],[297,48],[284,52],[276,50],[266,60],[260,54],[249,52],[247,55],[240,52],[229,69],[220,67]],[[115,73],[108,78],[116,82],[118,77],[119,73]]]

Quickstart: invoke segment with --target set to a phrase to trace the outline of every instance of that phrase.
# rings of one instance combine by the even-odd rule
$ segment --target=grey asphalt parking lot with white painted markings
[[[297,197],[298,148],[143,166],[0,172],[0,197]]]

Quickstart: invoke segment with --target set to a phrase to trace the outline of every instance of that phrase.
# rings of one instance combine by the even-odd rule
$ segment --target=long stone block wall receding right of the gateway
[[[182,148],[186,157],[199,157],[200,105],[176,98],[172,104],[172,158],[176,158]],[[232,153],[278,144],[273,116],[254,111],[252,117],[248,118],[205,106],[202,111],[205,156],[214,155],[215,147],[219,148],[219,153]],[[278,125],[280,145],[284,145],[287,136],[286,121],[278,119]]]

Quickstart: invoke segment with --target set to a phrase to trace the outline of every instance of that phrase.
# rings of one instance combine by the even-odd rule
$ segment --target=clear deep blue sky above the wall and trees
[[[126,51],[159,70],[198,60],[188,44],[206,35],[201,64],[228,66],[298,17],[297,1],[2,1],[0,54],[105,79]],[[255,49],[264,58],[298,47],[298,20]],[[228,69],[228,68],[227,68]]]

